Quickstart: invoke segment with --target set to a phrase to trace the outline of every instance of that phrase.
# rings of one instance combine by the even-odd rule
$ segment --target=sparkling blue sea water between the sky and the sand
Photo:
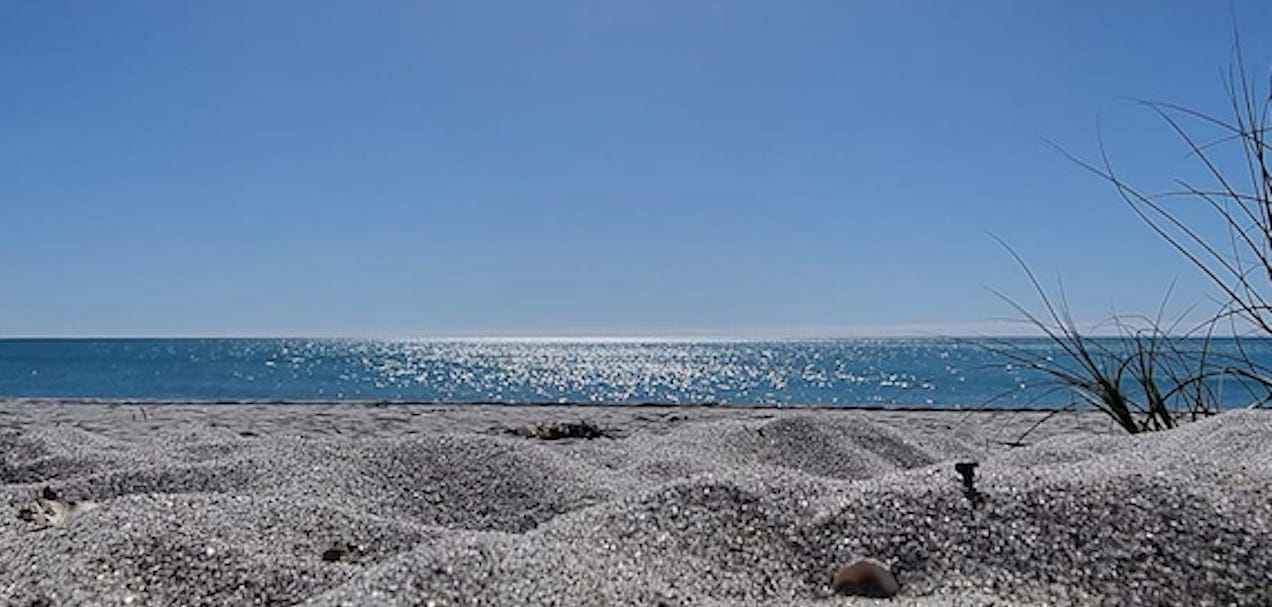
[[[1040,338],[1006,344],[1063,360]],[[1272,342],[1244,342],[1272,363]],[[1220,342],[1212,351],[1231,352]],[[1217,380],[1216,380],[1217,382]],[[1227,406],[1250,401],[1235,380]],[[0,340],[0,396],[207,401],[1066,406],[968,340]]]

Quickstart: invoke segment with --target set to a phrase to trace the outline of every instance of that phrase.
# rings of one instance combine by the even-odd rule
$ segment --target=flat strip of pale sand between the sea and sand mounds
[[[0,429],[69,425],[111,436],[162,430],[168,424],[190,431],[216,429],[251,435],[398,436],[404,433],[485,433],[500,425],[523,428],[556,421],[588,421],[630,429],[626,433],[631,434],[669,431],[679,422],[791,417],[833,421],[852,416],[895,426],[898,431],[904,431],[906,425],[916,420],[920,426],[943,431],[968,433],[979,426],[974,431],[986,436],[976,440],[1004,443],[1013,443],[1027,431],[1033,440],[1074,431],[1121,433],[1098,411],[1060,408],[0,400]]]

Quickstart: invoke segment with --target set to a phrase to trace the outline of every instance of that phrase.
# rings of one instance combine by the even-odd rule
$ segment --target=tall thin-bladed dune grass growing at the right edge
[[[1065,153],[1112,183],[1131,210],[1217,289],[1219,309],[1205,323],[1179,333],[1178,323],[1163,324],[1159,310],[1156,318],[1138,322],[1114,318],[1114,338],[1091,337],[1074,322],[1063,293],[1058,302],[1051,298],[1024,261],[1007,248],[1046,313],[1034,314],[1004,299],[1063,350],[1065,360],[1001,341],[990,349],[1042,373],[1056,387],[1071,389],[1130,433],[1170,429],[1184,419],[1217,412],[1224,402],[1212,386],[1222,378],[1235,378],[1248,389],[1252,407],[1272,401],[1272,372],[1245,349],[1252,336],[1272,337],[1272,75],[1263,87],[1247,75],[1239,38],[1234,53],[1224,79],[1230,120],[1172,103],[1140,101],[1179,136],[1188,157],[1199,163],[1212,183],[1179,179],[1175,190],[1149,195],[1114,171],[1103,145],[1099,164]],[[1203,139],[1199,129],[1211,132]],[[1239,153],[1231,153],[1233,144]],[[1180,201],[1210,213],[1198,215],[1179,207]],[[1184,210],[1188,213],[1180,213]],[[1211,337],[1220,328],[1234,341],[1236,354],[1211,351]],[[1188,336],[1203,338],[1180,338]],[[1196,350],[1186,351],[1184,344],[1193,344]]]

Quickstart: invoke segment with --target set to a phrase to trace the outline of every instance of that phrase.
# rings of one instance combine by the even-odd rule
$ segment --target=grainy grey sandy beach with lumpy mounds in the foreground
[[[1272,604],[1272,412],[1048,415],[0,401],[0,599]]]

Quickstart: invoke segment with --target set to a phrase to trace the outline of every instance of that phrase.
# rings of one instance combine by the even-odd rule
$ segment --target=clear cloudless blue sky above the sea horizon
[[[1266,78],[1257,0],[0,3],[0,335],[981,331],[988,233],[1187,305],[1046,141],[1189,174],[1126,97],[1222,115],[1233,14]]]

